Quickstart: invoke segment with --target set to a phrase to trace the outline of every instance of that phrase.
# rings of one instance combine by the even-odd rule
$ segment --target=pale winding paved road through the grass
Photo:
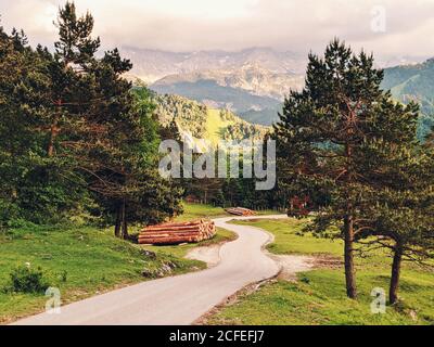
[[[30,317],[18,325],[189,325],[242,287],[279,272],[263,252],[270,236],[233,219],[280,219],[285,216],[216,219],[217,227],[235,232],[239,239],[224,245],[215,268],[179,277],[143,282],[71,304],[60,314]]]

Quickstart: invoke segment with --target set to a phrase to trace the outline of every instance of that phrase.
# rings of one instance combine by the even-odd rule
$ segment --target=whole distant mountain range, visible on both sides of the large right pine
[[[307,56],[270,48],[238,52],[165,52],[124,48],[140,78],[158,94],[178,94],[208,108],[229,110],[250,123],[269,126],[290,90],[304,86]],[[434,59],[387,57],[376,61],[384,69],[382,88],[400,102],[421,104],[419,136],[433,126]],[[387,67],[392,64],[405,63]]]

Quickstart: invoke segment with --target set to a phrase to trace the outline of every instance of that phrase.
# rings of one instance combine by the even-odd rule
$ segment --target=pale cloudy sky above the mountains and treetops
[[[378,55],[434,55],[434,0],[76,0],[105,47],[321,51],[334,36]],[[0,0],[2,25],[55,38],[61,0]]]

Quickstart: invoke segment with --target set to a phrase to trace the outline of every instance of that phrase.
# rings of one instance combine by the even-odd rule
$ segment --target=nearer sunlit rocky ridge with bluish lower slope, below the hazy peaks
[[[161,94],[182,95],[209,107],[228,108],[247,121],[270,126],[278,118],[284,95],[303,86],[303,75],[273,73],[255,63],[170,75],[151,85],[151,89]]]

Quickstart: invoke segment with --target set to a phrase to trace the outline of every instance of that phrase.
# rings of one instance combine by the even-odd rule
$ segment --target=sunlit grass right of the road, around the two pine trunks
[[[299,235],[303,221],[250,221],[276,235],[268,246],[275,254],[309,254],[342,257],[342,243]],[[406,264],[400,297],[385,314],[372,314],[371,291],[387,293],[391,259],[381,254],[357,259],[358,301],[346,298],[343,269],[301,273],[298,282],[275,281],[254,293],[242,293],[234,304],[212,316],[210,324],[434,324],[434,273]]]

